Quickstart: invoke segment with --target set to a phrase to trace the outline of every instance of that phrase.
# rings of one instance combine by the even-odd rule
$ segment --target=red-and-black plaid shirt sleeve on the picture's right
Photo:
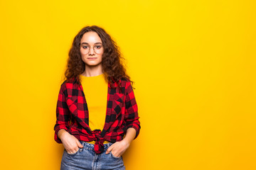
[[[139,130],[141,129],[139,116],[138,116],[138,106],[134,96],[134,91],[130,81],[126,84],[126,97],[125,97],[125,115],[124,120],[126,122],[127,129],[134,128],[136,130],[136,136],[134,140],[139,135]]]

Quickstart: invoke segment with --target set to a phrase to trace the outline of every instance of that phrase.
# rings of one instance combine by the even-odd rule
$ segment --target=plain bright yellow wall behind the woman
[[[142,129],[127,170],[256,169],[255,1],[0,1],[1,169],[60,169],[55,107],[84,26],[117,41]]]

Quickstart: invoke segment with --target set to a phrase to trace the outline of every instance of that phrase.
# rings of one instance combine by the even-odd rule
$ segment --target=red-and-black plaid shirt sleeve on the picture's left
[[[58,143],[62,143],[60,138],[58,137],[58,131],[60,129],[65,129],[68,131],[69,123],[70,123],[70,111],[68,109],[68,105],[65,101],[65,95],[63,92],[63,86],[60,86],[60,91],[58,94],[58,102],[56,108],[56,123],[54,125],[54,140]]]

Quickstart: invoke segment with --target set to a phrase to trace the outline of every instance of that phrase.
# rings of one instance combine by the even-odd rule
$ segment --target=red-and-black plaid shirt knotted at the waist
[[[91,130],[89,127],[89,112],[82,85],[78,79],[64,81],[60,86],[56,108],[56,123],[54,126],[54,140],[62,143],[58,138],[60,129],[67,130],[78,140],[95,141],[95,152],[100,154],[104,150],[103,142],[117,142],[123,139],[128,128],[136,130],[137,138],[140,130],[138,107],[130,81],[122,79],[121,90],[108,83],[107,113],[103,130]]]

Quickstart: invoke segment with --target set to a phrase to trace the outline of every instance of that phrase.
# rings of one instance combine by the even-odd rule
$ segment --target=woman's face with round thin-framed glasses
[[[80,41],[82,61],[88,66],[96,66],[102,62],[104,52],[102,40],[94,31],[84,33]]]

